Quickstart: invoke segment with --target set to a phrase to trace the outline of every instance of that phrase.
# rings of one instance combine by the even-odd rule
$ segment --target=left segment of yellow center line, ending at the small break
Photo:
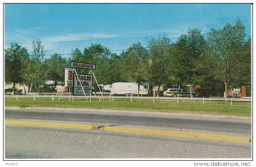
[[[48,128],[68,128],[68,129],[98,129],[98,126],[94,126],[94,125],[32,122],[32,121],[5,121],[5,125],[41,126],[41,127],[48,127]]]

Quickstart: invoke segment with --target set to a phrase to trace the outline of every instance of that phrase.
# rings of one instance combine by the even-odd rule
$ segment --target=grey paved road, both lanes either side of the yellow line
[[[251,120],[238,117],[5,109],[5,120],[68,121],[251,137]],[[106,132],[101,129],[5,126],[5,158],[251,158],[251,144]]]

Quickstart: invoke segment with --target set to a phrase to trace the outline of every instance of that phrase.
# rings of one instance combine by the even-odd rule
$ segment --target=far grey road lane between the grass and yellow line
[[[146,115],[146,114],[145,114]],[[141,114],[101,113],[90,111],[59,112],[45,111],[43,109],[5,109],[5,118],[52,120],[52,121],[77,121],[95,124],[113,124],[116,126],[151,126],[158,128],[180,129],[182,131],[206,131],[238,134],[251,136],[251,121],[230,121],[225,119],[187,119],[180,117],[158,117]]]

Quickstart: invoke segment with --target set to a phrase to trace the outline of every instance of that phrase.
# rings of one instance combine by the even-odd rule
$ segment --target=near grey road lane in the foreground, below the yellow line
[[[250,158],[251,145],[102,131],[5,126],[5,158]]]

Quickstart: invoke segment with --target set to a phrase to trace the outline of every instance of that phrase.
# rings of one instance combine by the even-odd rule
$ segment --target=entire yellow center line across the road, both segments
[[[16,125],[16,126],[40,126],[48,128],[68,128],[68,129],[99,129],[102,126],[87,125],[87,124],[67,124],[67,123],[48,123],[48,122],[34,122],[34,121],[5,121],[5,125]],[[160,131],[151,129],[138,129],[138,128],[127,128],[127,127],[113,127],[105,126],[101,128],[102,131],[109,132],[124,132],[124,133],[136,133],[136,134],[148,134],[148,135],[165,135],[172,137],[186,137],[186,138],[197,138],[202,140],[218,140],[227,141],[232,143],[251,143],[251,139],[243,137],[232,137],[222,135],[210,135],[210,134],[196,134],[189,132],[176,132],[176,131]]]

